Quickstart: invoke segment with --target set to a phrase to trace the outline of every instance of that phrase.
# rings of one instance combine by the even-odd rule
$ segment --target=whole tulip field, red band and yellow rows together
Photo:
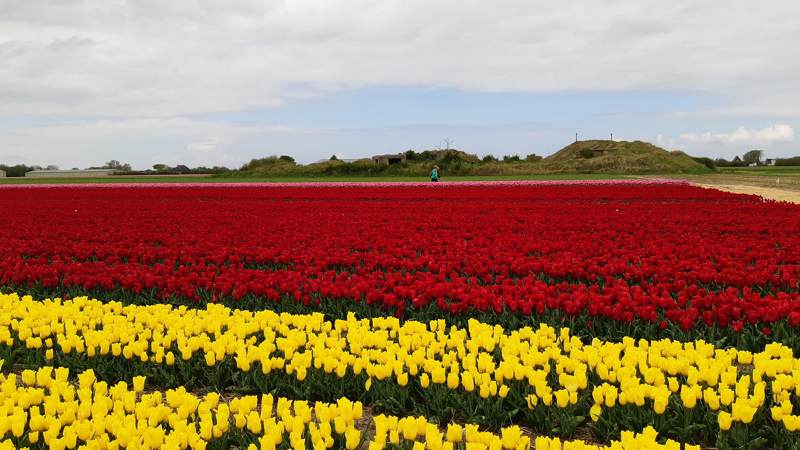
[[[0,208],[12,446],[800,442],[797,205],[621,181],[0,187]]]

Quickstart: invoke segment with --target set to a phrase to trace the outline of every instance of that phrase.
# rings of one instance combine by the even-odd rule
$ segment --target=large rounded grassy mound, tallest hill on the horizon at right
[[[554,172],[687,173],[708,169],[683,152],[642,141],[578,141],[548,156],[542,169]]]

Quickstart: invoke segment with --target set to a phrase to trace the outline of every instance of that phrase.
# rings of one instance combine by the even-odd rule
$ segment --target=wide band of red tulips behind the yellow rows
[[[0,207],[24,211],[0,229],[15,290],[800,348],[800,208],[684,184],[5,189]]]

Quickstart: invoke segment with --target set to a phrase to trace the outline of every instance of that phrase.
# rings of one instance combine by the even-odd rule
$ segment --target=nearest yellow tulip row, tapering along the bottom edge
[[[0,362],[2,363],[2,362]],[[63,367],[45,366],[0,374],[0,448],[31,446],[74,449],[526,449],[536,450],[693,450],[674,441],[656,442],[657,433],[623,433],[610,446],[558,438],[531,439],[519,427],[499,433],[476,425],[440,428],[424,417],[362,417],[361,403],[293,401],[272,395],[227,399],[197,396],[184,388],[145,392],[144,377],[109,384],[92,370],[69,378]],[[371,420],[367,437],[359,422]]]

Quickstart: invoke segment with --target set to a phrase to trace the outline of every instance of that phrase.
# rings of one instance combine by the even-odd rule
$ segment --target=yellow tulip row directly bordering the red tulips
[[[545,325],[328,321],[15,294],[0,296],[0,343],[14,364],[48,361],[100,377],[141,373],[159,385],[195,380],[313,400],[347,396],[400,415],[513,420],[546,434],[588,425],[609,439],[652,424],[682,442],[780,446],[800,430],[800,359],[777,343],[753,354],[702,341],[584,343]]]

